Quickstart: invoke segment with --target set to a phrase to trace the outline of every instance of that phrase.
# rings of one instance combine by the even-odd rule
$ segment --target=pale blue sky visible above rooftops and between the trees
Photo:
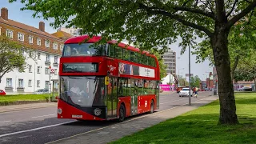
[[[45,22],[46,26],[46,32],[52,34],[56,32],[53,27],[49,26],[50,22],[53,22],[53,19],[50,19],[50,21],[44,21],[42,18],[33,18],[32,14],[33,11],[31,10],[20,10],[24,5],[18,0],[18,2],[9,3],[8,0],[0,0],[1,1],[1,7],[6,7],[9,10],[9,18],[17,21],[22,22],[29,26],[37,27],[39,26],[39,22],[43,21]],[[189,73],[189,53],[188,49],[184,54],[180,54],[181,47],[178,46],[178,43],[180,40],[178,40],[175,43],[172,43],[170,45],[171,50],[174,50],[176,52],[176,71],[177,74],[182,75],[185,77],[185,74]],[[198,40],[200,42],[200,40]],[[191,49],[191,51],[193,51]],[[199,78],[202,80],[206,79],[206,75],[209,75],[209,72],[213,71],[213,68],[209,66],[209,61],[202,62],[202,63],[195,63],[196,62],[196,55],[190,55],[190,70],[191,74],[198,75]],[[206,73],[208,72],[208,73]]]

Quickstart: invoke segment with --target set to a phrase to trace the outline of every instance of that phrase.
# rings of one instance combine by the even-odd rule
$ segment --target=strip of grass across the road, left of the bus
[[[56,94],[54,95],[56,96]],[[48,94],[17,94],[0,96],[0,106],[47,102],[49,99],[48,96]],[[52,94],[50,94],[50,97],[52,97]]]

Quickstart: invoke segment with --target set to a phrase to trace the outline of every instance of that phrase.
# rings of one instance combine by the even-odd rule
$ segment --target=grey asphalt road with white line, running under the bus
[[[201,92],[198,98],[191,98],[192,103],[209,96],[209,92]],[[161,94],[160,109],[167,110],[175,106],[188,103],[188,97],[178,97],[178,94]],[[0,113],[0,143],[46,143],[75,134],[97,130],[104,126],[114,125],[116,122],[79,122],[70,119],[56,118],[56,106],[19,110]],[[129,120],[142,117],[127,118]]]

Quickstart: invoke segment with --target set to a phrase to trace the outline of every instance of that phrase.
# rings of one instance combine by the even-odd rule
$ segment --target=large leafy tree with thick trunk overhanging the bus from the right
[[[15,2],[17,0],[9,0]],[[228,36],[240,19],[248,16],[256,0],[21,0],[22,10],[34,10],[43,18],[54,18],[51,26],[82,28],[82,34],[102,35],[106,39],[137,42],[141,49],[167,50],[167,41],[182,37],[183,50],[194,46],[194,40],[209,38],[218,74],[220,101],[219,124],[237,124],[233,84],[230,74]],[[74,17],[73,19],[71,17]]]

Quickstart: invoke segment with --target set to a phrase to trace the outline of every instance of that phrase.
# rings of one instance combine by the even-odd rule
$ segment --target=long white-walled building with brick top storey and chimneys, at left
[[[29,48],[30,51],[24,52],[24,55],[34,57],[26,58],[28,66],[25,72],[14,70],[5,74],[0,90],[5,90],[7,94],[31,93],[38,89],[49,89],[50,84],[51,90],[58,89],[58,64],[64,39],[47,33],[44,22],[39,22],[38,28],[35,28],[9,19],[6,8],[1,9],[0,36],[2,35]],[[50,66],[54,74],[50,74]]]

